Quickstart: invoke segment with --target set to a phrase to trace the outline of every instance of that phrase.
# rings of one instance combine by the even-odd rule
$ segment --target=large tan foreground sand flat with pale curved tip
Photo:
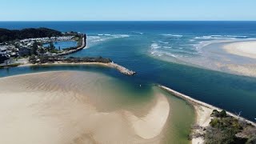
[[[126,110],[100,87],[110,81],[70,71],[0,78],[0,143],[160,143],[166,96],[156,94],[146,112]]]

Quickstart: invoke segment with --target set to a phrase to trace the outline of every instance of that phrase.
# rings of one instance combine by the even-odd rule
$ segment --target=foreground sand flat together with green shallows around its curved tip
[[[1,143],[189,143],[193,108],[156,86],[140,89],[81,71],[1,78]]]

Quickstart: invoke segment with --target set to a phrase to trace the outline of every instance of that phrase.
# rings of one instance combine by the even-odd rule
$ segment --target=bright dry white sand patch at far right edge
[[[247,58],[256,58],[256,41],[234,42],[223,46],[223,48],[230,54]]]

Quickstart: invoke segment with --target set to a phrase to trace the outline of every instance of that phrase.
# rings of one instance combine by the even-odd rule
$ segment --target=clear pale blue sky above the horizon
[[[0,0],[0,21],[256,20],[256,0]]]

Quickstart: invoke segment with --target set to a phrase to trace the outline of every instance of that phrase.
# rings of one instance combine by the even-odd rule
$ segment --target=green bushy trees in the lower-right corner
[[[254,143],[256,129],[254,126],[227,116],[226,111],[214,110],[210,126],[206,128],[206,144]]]

